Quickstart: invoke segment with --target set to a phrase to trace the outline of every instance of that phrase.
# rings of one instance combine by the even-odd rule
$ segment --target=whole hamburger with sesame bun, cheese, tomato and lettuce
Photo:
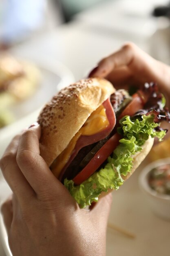
[[[167,130],[165,98],[155,83],[132,96],[100,78],[55,95],[38,117],[40,155],[81,208],[119,189]]]

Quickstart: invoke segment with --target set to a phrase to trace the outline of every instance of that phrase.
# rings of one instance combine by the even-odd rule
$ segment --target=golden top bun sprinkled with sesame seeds
[[[100,78],[82,79],[62,89],[42,109],[40,155],[50,166],[66,148],[85,121],[115,92],[113,85]]]

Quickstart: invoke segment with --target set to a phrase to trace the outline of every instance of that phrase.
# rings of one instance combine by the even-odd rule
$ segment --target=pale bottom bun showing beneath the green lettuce
[[[151,150],[151,148],[153,146],[153,143],[154,143],[154,138],[149,137],[148,140],[143,145],[143,149],[141,150],[141,152],[139,152],[139,153],[137,153],[137,154],[135,154],[133,156],[133,168],[132,168],[132,171],[130,173],[128,173],[128,175],[126,175],[126,177],[124,175],[122,175],[122,178],[124,179],[124,181],[126,181],[132,175],[132,173],[134,173],[134,171],[137,169],[137,167],[145,159],[145,157],[150,152],[150,150]],[[104,197],[105,195],[107,195],[108,193],[110,193],[112,191],[113,191],[113,189],[108,189],[108,192],[102,192],[99,195],[99,198]]]

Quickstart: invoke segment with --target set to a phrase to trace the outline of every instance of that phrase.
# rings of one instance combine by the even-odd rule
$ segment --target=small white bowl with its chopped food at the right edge
[[[153,213],[170,220],[170,158],[148,164],[139,175],[139,185]]]

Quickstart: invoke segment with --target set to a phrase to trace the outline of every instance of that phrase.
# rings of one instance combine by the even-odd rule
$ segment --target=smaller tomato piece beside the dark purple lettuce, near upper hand
[[[133,116],[135,113],[144,108],[144,101],[139,96],[138,93],[132,95],[132,101],[128,104],[128,106],[121,112],[119,116],[119,120],[124,116]]]

